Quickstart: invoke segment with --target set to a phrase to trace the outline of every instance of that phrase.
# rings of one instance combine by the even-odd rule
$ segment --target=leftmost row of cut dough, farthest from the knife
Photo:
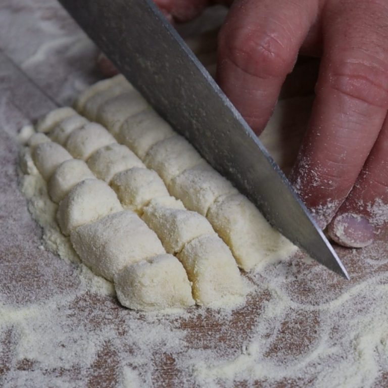
[[[52,169],[59,151],[70,155],[52,141],[41,144],[50,147],[45,146],[44,158],[39,158],[41,163],[36,167],[40,173],[46,173],[46,161]],[[78,174],[74,174],[77,169]],[[31,167],[28,171],[33,173]],[[123,210],[107,183],[90,175],[83,161],[70,156],[59,164],[49,181],[52,187],[60,182],[56,189],[62,197],[56,201],[60,201],[58,224],[65,235],[70,234],[81,261],[97,275],[114,281],[123,306],[143,311],[192,306],[191,285],[179,260],[165,253],[155,232],[135,213]],[[154,276],[161,273],[161,266],[166,268],[165,278]],[[133,281],[133,273],[139,273],[141,279]]]

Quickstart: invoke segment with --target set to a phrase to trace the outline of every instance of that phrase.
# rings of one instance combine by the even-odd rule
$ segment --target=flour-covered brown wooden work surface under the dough
[[[351,281],[297,255],[249,276],[254,290],[232,312],[171,316],[122,308],[45,250],[16,136],[99,79],[98,52],[54,0],[3,0],[0,50],[0,386],[388,386],[386,235],[336,248]],[[304,94],[311,82],[288,84]],[[306,116],[289,111],[271,124],[283,139]]]

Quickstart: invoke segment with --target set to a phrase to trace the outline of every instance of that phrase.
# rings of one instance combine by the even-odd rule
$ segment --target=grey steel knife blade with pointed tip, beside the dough
[[[151,0],[59,1],[155,110],[274,228],[349,279],[260,140]]]

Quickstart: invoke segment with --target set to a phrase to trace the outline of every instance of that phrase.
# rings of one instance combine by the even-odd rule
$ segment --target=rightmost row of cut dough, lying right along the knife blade
[[[102,93],[109,90],[109,83],[106,86]],[[296,252],[297,247],[273,229],[245,196],[239,195],[236,200],[234,195],[238,191],[231,183],[152,109],[135,115],[125,111],[122,114],[117,117],[122,125],[120,129],[115,127],[113,133],[116,139],[154,169],[170,194],[188,210],[208,218],[240,268],[260,270],[263,262],[281,260]],[[112,127],[107,129],[111,131]],[[222,203],[217,201],[219,198]],[[236,220],[243,228],[235,227]]]

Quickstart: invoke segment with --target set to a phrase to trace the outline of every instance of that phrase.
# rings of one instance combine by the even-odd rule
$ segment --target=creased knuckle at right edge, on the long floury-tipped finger
[[[388,59],[388,58],[387,58]],[[333,66],[330,86],[345,96],[367,105],[388,107],[388,66],[380,59],[347,59]]]

